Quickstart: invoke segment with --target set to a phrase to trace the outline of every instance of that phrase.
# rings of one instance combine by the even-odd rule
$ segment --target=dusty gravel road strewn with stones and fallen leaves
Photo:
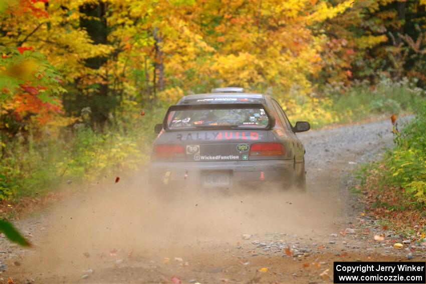
[[[336,260],[425,259],[424,245],[383,231],[349,190],[353,170],[391,146],[388,121],[300,137],[307,193],[195,190],[164,200],[143,170],[118,183],[107,176],[18,221],[34,248],[1,238],[0,282],[323,283]]]

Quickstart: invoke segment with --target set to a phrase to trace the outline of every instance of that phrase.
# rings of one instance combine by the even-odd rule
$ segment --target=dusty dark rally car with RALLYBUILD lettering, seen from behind
[[[280,104],[265,94],[219,88],[182,97],[169,107],[149,167],[161,187],[275,185],[305,189],[305,148]]]

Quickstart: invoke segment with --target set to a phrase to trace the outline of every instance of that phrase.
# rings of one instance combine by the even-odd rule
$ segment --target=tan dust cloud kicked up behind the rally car
[[[105,179],[56,206],[26,267],[77,275],[102,265],[111,254],[161,261],[204,244],[237,245],[243,234],[253,235],[252,241],[265,232],[329,233],[338,214],[325,195],[277,188],[176,187],[167,196],[148,185],[146,174],[114,180]]]

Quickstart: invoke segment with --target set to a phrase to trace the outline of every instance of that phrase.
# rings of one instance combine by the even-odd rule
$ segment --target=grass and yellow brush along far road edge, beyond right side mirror
[[[279,101],[293,124],[305,120],[315,129],[411,113],[413,106],[425,97],[424,90],[415,87],[414,82],[403,79],[394,83],[388,78],[382,78],[374,87],[358,82],[351,87],[327,86],[323,92],[325,96],[290,93]]]

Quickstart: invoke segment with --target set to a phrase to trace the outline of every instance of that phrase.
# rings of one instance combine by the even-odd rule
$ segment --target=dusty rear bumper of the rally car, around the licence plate
[[[216,162],[151,162],[149,177],[158,184],[205,186],[203,177],[212,173],[230,175],[229,186],[282,183],[291,185],[293,160],[216,161]]]

